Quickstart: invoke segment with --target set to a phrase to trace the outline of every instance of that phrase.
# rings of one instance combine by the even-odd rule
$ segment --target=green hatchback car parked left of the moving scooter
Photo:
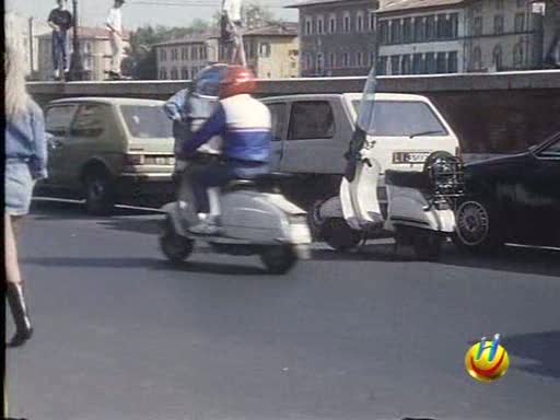
[[[147,206],[173,192],[172,124],[163,102],[79,97],[50,102],[49,177],[42,188],[85,199],[90,213]]]

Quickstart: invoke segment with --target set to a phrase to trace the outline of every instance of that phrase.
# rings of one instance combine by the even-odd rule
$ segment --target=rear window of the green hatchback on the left
[[[172,124],[160,105],[120,105],[120,112],[132,137],[173,137]]]

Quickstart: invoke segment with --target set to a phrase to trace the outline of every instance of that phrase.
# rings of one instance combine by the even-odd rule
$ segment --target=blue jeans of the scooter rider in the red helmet
[[[199,213],[210,212],[208,188],[224,186],[232,179],[252,179],[268,173],[269,167],[265,162],[237,160],[212,162],[207,166],[192,170],[190,180],[197,202],[197,211]]]

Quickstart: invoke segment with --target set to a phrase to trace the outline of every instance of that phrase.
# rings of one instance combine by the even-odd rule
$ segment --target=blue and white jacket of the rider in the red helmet
[[[183,145],[188,156],[214,136],[222,137],[225,158],[249,162],[270,160],[271,117],[268,107],[250,95],[220,101],[206,124]]]

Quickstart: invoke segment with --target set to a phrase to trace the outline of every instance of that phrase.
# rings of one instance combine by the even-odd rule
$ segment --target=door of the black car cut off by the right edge
[[[528,159],[515,185],[516,220],[521,228],[517,240],[560,246],[560,136]]]

